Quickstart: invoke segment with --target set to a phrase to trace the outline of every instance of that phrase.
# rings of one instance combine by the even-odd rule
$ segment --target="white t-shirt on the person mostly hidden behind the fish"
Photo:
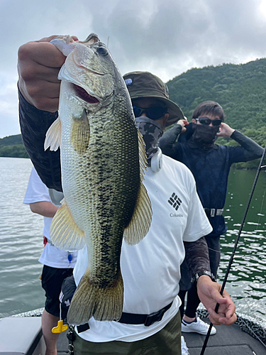
[[[31,204],[35,202],[50,201],[48,187],[40,180],[38,173],[35,168],[31,172],[30,179],[28,180],[28,187],[23,200],[24,204]],[[50,224],[52,223],[52,218],[43,217],[43,235],[49,239]],[[49,239],[50,240],[50,239]],[[52,268],[74,268],[77,261],[77,252],[71,253],[72,261],[69,261],[70,253],[67,251],[62,251],[47,243],[43,249],[43,253],[40,256],[40,263]]]

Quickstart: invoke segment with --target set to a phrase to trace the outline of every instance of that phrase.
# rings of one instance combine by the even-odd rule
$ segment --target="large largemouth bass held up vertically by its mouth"
[[[145,145],[123,77],[97,35],[84,42],[61,36],[52,43],[67,58],[58,76],[59,116],[45,138],[45,150],[60,146],[65,195],[50,238],[66,251],[87,244],[89,259],[67,321],[119,320],[122,241],[137,244],[151,223]]]

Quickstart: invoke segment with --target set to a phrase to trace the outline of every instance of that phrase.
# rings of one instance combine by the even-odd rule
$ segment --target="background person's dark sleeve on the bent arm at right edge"
[[[262,156],[263,148],[243,133],[235,130],[231,138],[240,144],[240,147],[231,147],[231,163],[254,160]]]

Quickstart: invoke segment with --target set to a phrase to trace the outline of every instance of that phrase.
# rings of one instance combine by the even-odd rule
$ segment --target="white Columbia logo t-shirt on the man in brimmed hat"
[[[135,246],[125,242],[121,251],[124,282],[123,312],[150,314],[174,301],[160,322],[144,324],[99,322],[91,318],[90,329],[79,333],[89,342],[120,340],[134,342],[159,332],[177,314],[180,265],[184,260],[183,241],[196,241],[212,230],[199,197],[194,177],[182,163],[162,155],[162,169],[148,168],[144,185],[153,208],[147,236]],[[87,249],[79,251],[74,268],[78,284],[87,268]]]

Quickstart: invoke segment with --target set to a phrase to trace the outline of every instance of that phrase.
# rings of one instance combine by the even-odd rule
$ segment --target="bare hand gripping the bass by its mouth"
[[[23,97],[37,109],[50,112],[58,109],[60,80],[57,76],[66,58],[50,43],[55,37],[28,42],[18,50],[18,87]]]

